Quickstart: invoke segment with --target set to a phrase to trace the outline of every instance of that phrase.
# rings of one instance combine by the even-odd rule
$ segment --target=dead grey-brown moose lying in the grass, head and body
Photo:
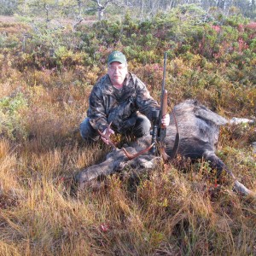
[[[177,130],[179,132],[179,146],[177,154],[192,160],[204,158],[210,162],[213,169],[217,169],[218,176],[225,171],[234,179],[234,187],[243,195],[249,195],[251,192],[244,185],[236,180],[234,174],[215,154],[218,143],[219,126],[228,123],[226,119],[213,113],[211,110],[201,105],[195,100],[184,101],[173,109],[171,113],[171,122],[166,130],[166,154],[173,154],[172,149],[175,143]],[[143,148],[148,148],[151,143],[151,137],[146,136],[132,143],[125,149],[131,154],[137,154]],[[120,172],[129,165],[137,170],[153,169],[160,157],[150,154],[141,154],[136,158],[129,159],[123,150],[115,149],[110,152],[106,160],[98,165],[90,166],[79,173],[79,188],[83,189],[86,184],[96,180],[97,177],[107,176],[114,172]]]

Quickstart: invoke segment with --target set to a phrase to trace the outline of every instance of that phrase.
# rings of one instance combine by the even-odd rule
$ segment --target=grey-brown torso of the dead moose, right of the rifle
[[[228,120],[193,100],[178,104],[174,108],[174,112],[180,135],[177,154],[192,160],[202,157],[209,160],[212,168],[218,170],[218,175],[223,169],[228,171],[223,161],[215,154],[219,126],[226,125]],[[177,132],[173,114],[171,114],[170,124],[166,130],[165,144],[167,154],[172,154],[174,138]]]

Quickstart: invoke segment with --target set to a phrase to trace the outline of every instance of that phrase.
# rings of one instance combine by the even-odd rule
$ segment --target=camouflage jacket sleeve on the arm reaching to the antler
[[[90,125],[96,130],[104,131],[108,127],[108,121],[102,91],[98,86],[95,86],[91,91],[89,104],[87,116],[90,118]]]

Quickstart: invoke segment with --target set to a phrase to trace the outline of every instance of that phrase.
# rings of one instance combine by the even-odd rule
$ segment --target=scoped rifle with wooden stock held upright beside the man
[[[151,148],[151,152],[156,154],[156,143],[163,143],[166,137],[166,126],[162,125],[161,119],[167,113],[167,90],[165,89],[166,86],[166,60],[167,60],[167,53],[164,56],[164,73],[163,73],[163,80],[162,80],[162,88],[161,88],[161,97],[160,97],[160,110],[154,109],[152,111],[152,122],[153,122],[153,130],[151,131],[152,135],[152,144],[154,146]]]

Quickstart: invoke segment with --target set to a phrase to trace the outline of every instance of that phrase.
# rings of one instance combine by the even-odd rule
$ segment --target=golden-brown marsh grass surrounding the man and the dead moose
[[[229,179],[216,184],[203,160],[161,165],[141,176],[137,185],[113,175],[101,189],[78,192],[76,174],[104,160],[110,150],[101,143],[86,145],[78,131],[91,86],[104,68],[87,73],[90,67],[58,72],[27,67],[21,73],[9,63],[11,54],[7,56],[1,64],[0,96],[17,102],[21,93],[26,101],[19,108],[2,108],[14,126],[1,123],[0,255],[256,254],[255,201],[232,192]],[[168,73],[173,63],[168,64]],[[147,82],[146,71],[153,67],[135,66],[131,64],[131,69]],[[225,80],[225,70],[218,72],[220,82],[206,85],[195,75],[186,79],[186,65],[179,68],[176,90],[167,84],[173,102],[198,96],[227,118],[252,115],[256,94],[245,87],[239,96],[250,101],[237,106],[237,90]],[[156,73],[160,75],[161,71]],[[160,79],[150,79],[149,89],[158,97]],[[173,83],[172,79],[168,81]],[[217,152],[253,191],[256,165],[249,144],[254,129],[223,128]]]

